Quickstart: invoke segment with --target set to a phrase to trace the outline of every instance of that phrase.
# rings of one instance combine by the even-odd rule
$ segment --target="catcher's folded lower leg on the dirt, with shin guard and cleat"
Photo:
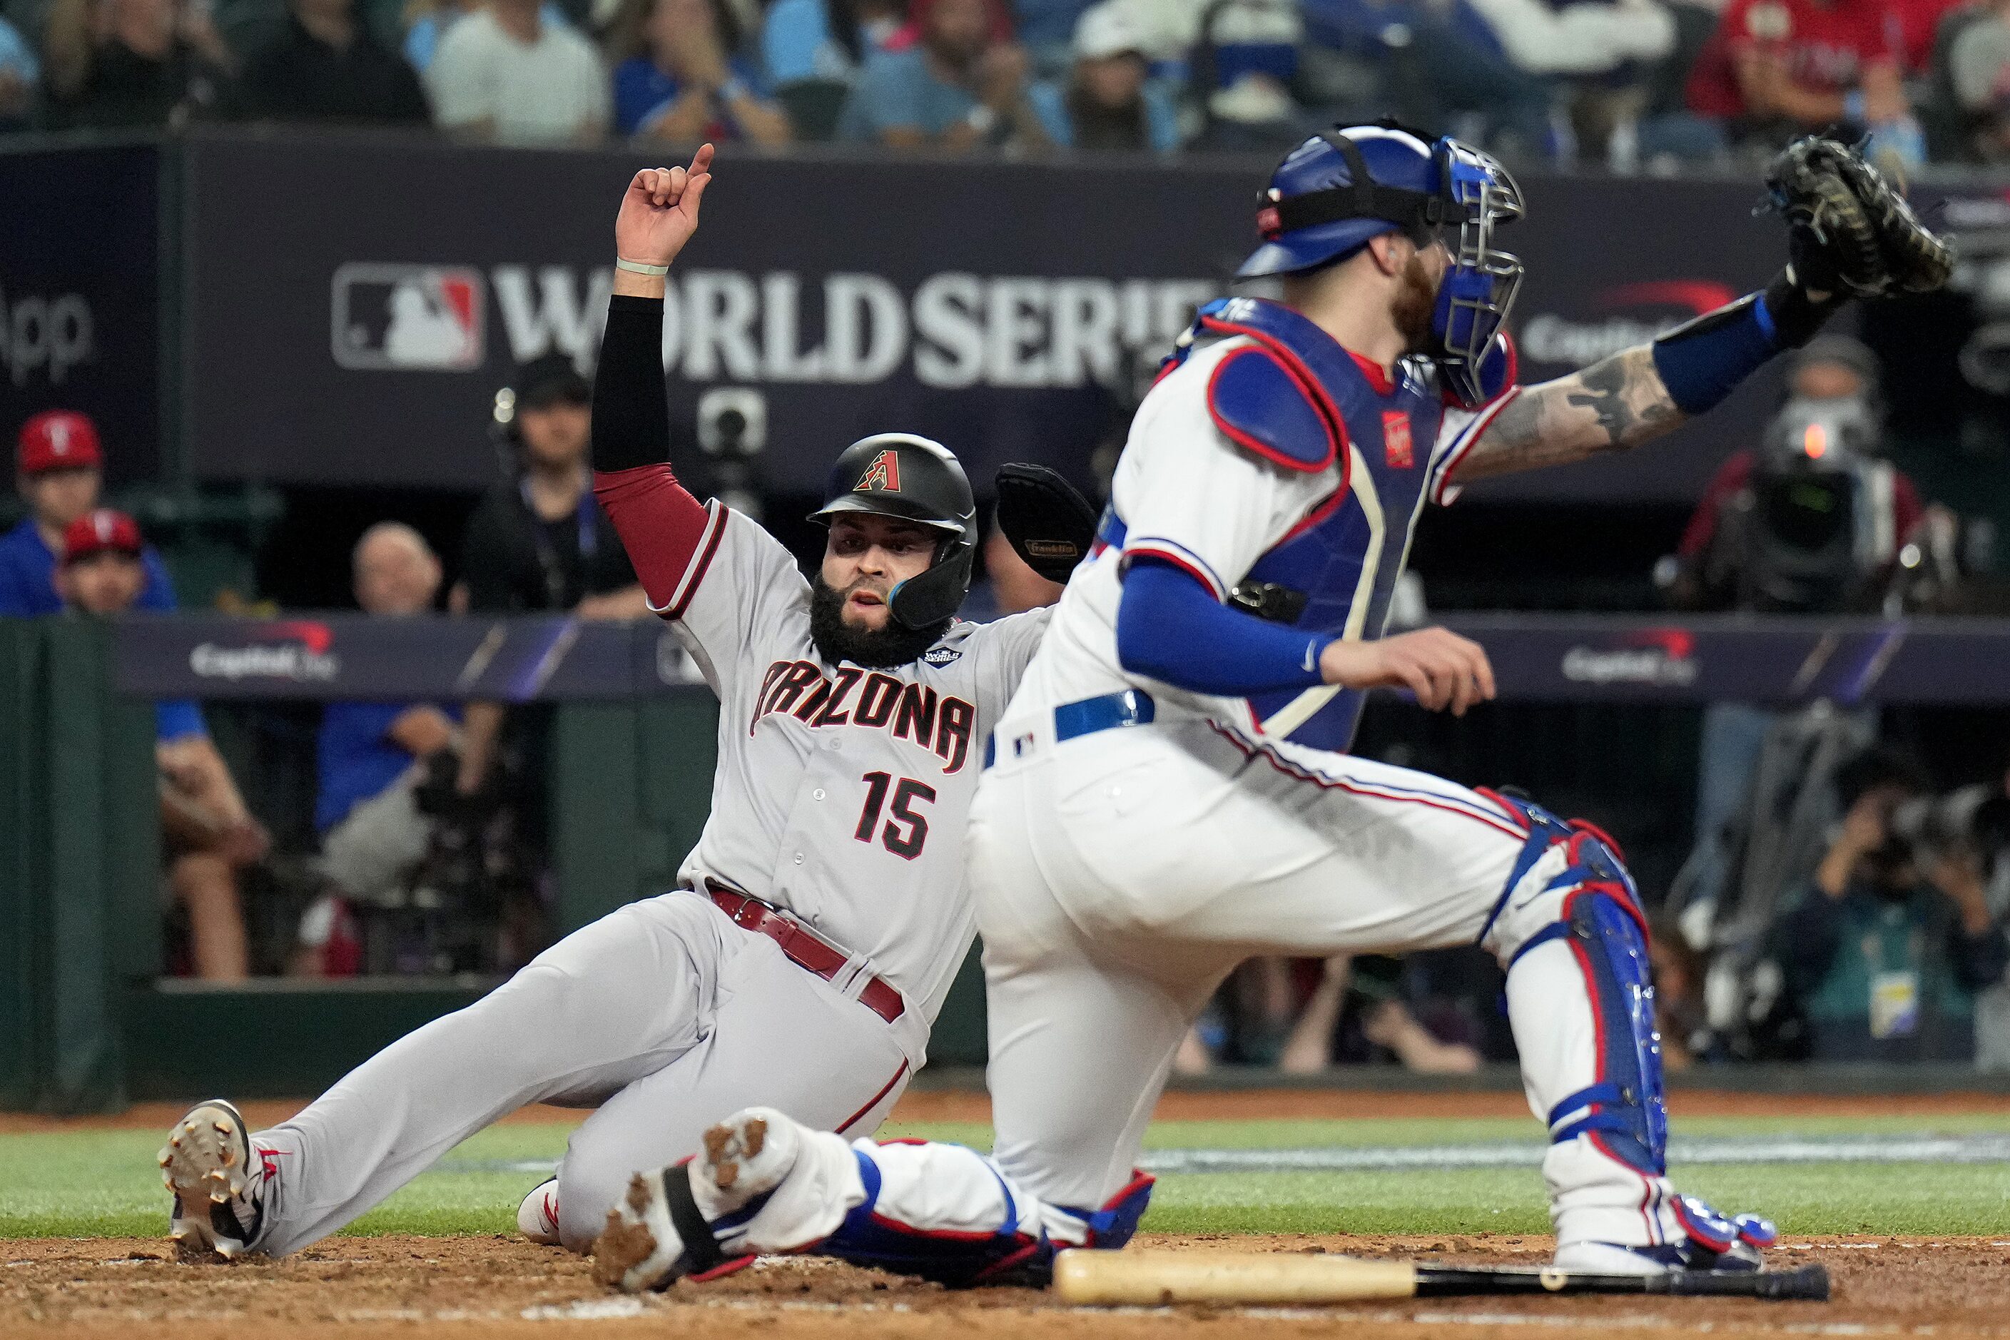
[[[975,1149],[846,1145],[752,1107],[695,1159],[635,1175],[593,1244],[595,1274],[633,1292],[814,1252],[953,1288],[1045,1286],[1059,1248],[1130,1242],[1150,1197],[1138,1173],[1101,1209],[1043,1205]]]

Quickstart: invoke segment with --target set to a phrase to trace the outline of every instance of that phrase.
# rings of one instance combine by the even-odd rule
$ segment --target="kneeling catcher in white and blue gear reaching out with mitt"
[[[1485,653],[1383,639],[1427,500],[1628,448],[1807,342],[1847,293],[1938,287],[1946,249],[1839,145],[1775,169],[1793,263],[1737,303],[1542,386],[1501,333],[1522,195],[1497,163],[1393,123],[1317,135],[1270,179],[1242,275],[1138,410],[1103,514],[971,808],[991,1002],[993,1157],[848,1145],[776,1111],[639,1173],[595,1246],[651,1288],[808,1248],[953,1284],[1041,1280],[1122,1246],[1174,1049],[1248,954],[1487,946],[1566,1270],[1755,1270],[1773,1230],[1666,1177],[1646,926],[1582,820],[1343,749],[1375,687],[1463,713]]]

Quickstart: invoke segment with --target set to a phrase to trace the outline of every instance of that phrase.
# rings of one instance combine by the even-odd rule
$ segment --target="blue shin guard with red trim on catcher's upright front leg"
[[[1642,1173],[1668,1171],[1668,1107],[1662,1097],[1660,1033],[1654,1027],[1654,980],[1648,970],[1646,918],[1626,862],[1596,826],[1564,822],[1548,810],[1495,796],[1528,824],[1530,838],[1507,890],[1556,844],[1570,864],[1550,880],[1564,896],[1564,916],[1530,936],[1507,962],[1514,972],[1538,944],[1570,940],[1586,976],[1598,1025],[1598,1081],[1550,1109],[1550,1141],[1592,1133],[1618,1161]],[[1501,894],[1505,904],[1507,892]],[[1499,908],[1495,908],[1495,916]],[[1493,920],[1487,920],[1491,928]],[[1481,932],[1483,938],[1485,932]]]

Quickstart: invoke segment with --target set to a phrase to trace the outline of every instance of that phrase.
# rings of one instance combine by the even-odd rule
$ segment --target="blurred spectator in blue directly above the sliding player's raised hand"
[[[671,145],[786,145],[788,115],[740,46],[718,0],[627,0],[611,38],[615,131]]]

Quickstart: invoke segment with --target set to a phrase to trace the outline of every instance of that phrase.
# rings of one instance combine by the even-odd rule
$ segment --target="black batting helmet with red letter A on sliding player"
[[[886,601],[904,629],[929,629],[963,605],[977,559],[977,498],[957,454],[911,432],[882,432],[846,446],[830,466],[828,502],[810,520],[840,512],[898,516],[943,532],[935,565],[892,589]]]

